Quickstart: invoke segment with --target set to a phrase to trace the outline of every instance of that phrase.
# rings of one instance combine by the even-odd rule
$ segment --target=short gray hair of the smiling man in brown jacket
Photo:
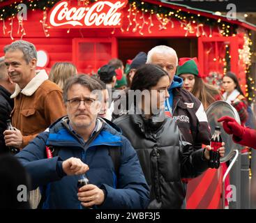
[[[37,59],[36,47],[33,43],[29,43],[24,40],[17,40],[10,45],[6,45],[3,48],[3,52],[20,50],[24,55],[24,60],[29,63],[32,59]]]

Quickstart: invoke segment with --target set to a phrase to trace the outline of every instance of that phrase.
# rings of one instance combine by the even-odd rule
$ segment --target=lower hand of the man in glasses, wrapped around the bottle
[[[93,205],[100,205],[105,200],[103,190],[93,184],[84,185],[78,190],[78,199],[81,201],[82,206],[89,208]]]

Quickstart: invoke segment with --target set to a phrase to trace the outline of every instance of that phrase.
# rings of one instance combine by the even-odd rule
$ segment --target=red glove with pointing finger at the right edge
[[[234,134],[234,136],[241,138],[243,135],[243,127],[236,122],[234,118],[224,116],[218,119],[218,122],[223,121],[223,128],[227,134]]]

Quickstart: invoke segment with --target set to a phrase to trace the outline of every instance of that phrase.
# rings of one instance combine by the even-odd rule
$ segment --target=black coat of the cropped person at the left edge
[[[13,103],[13,99],[10,99],[10,93],[0,85],[0,154],[8,152],[8,147],[3,139],[3,132],[7,128],[6,120],[10,119]]]

